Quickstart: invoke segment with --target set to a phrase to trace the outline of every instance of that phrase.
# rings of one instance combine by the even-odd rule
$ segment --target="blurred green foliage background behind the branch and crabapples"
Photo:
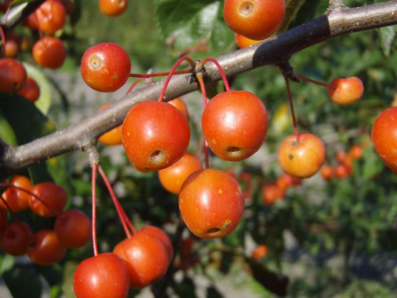
[[[286,2],[289,17],[285,20],[285,29],[288,24],[293,27],[320,16],[328,7],[326,0]],[[364,2],[374,1],[346,1],[349,6]],[[206,49],[190,53],[194,59],[216,57],[236,49],[233,33],[223,21],[223,2],[219,0],[130,1],[127,12],[118,18],[102,15],[96,0],[75,0],[74,3],[75,12],[59,33],[68,49],[67,62],[60,71],[71,76],[79,75],[82,53],[89,46],[105,41],[119,43],[128,51],[134,73],[170,69],[178,55],[190,52],[200,42],[206,44]],[[23,28],[16,31],[30,34]],[[348,150],[354,144],[362,145],[369,140],[375,117],[390,107],[396,95],[395,31],[395,27],[390,27],[334,38],[291,58],[298,74],[321,81],[356,75],[365,85],[361,101],[337,106],[323,87],[304,81],[292,84],[299,130],[310,131],[326,140],[328,162],[333,165],[336,151]],[[20,58],[34,64],[28,53],[20,54]],[[36,69],[41,72],[37,66]],[[243,289],[255,297],[270,297],[274,294],[266,278],[276,275],[280,280],[289,279],[286,292],[294,297],[396,296],[397,177],[369,146],[362,158],[354,162],[354,172],[348,178],[325,182],[318,174],[301,186],[290,188],[284,200],[265,205],[262,184],[274,181],[281,174],[274,153],[283,138],[292,133],[290,122],[281,119],[285,115],[280,107],[287,100],[283,77],[276,67],[269,66],[238,75],[232,82],[233,89],[252,91],[266,105],[270,125],[261,149],[266,158],[240,163],[212,158],[218,168],[252,174],[251,199],[247,200],[244,219],[232,234],[215,241],[197,239],[193,249],[199,263],[184,272],[182,281],[171,283],[173,293],[179,297],[195,297],[195,280],[204,276],[210,281],[206,289],[208,297],[227,297],[219,288],[223,283],[233,291]],[[50,119],[66,111],[67,90],[49,77],[42,78],[42,83],[53,84],[53,90],[58,90],[63,100],[62,104],[55,103],[48,115],[21,97],[1,94],[0,137],[7,143],[24,144],[55,130]],[[51,92],[54,91],[46,94],[52,95]],[[48,104],[51,97],[46,97]],[[199,134],[198,124],[192,120],[191,125]],[[134,224],[137,227],[167,225],[172,230],[172,223],[179,217],[177,197],[161,187],[157,174],[133,170],[124,155],[121,163],[114,164],[106,149],[102,146],[99,149],[103,168],[111,174],[113,183],[123,188],[120,200]],[[66,154],[21,174],[30,175],[35,183],[55,180],[67,189],[70,206],[89,214],[90,169],[85,163],[81,166],[78,160],[75,154]],[[100,249],[109,251],[124,235],[100,182],[98,196]],[[35,230],[53,224],[53,220],[44,221],[29,212],[20,217]],[[267,245],[269,254],[260,262],[249,257],[252,244],[250,248],[247,238],[251,243]],[[293,245],[289,243],[291,239]],[[69,250],[60,264],[42,267],[1,253],[0,272],[14,297],[40,297],[45,291],[42,278],[51,297],[73,297],[74,268],[91,255],[92,249],[87,245]],[[24,287],[20,287],[21,284]],[[137,292],[132,291],[130,296]]]

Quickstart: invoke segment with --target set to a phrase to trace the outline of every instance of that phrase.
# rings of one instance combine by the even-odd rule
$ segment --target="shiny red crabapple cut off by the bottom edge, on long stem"
[[[130,290],[127,266],[110,252],[85,259],[74,271],[73,289],[77,298],[126,298]]]

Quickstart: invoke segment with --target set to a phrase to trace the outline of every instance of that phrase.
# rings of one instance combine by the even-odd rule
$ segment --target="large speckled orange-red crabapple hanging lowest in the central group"
[[[231,233],[244,212],[239,183],[216,169],[194,172],[182,185],[179,209],[188,228],[200,238]]]

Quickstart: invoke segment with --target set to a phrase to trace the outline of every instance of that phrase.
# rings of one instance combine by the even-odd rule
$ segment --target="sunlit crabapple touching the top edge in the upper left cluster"
[[[41,31],[54,34],[65,25],[65,6],[57,0],[47,0],[36,9],[38,25]]]

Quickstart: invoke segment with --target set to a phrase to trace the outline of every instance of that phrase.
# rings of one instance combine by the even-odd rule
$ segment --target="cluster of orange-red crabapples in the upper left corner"
[[[5,1],[0,7],[1,11],[9,9],[11,2]],[[24,26],[28,27],[32,34],[39,33],[39,39],[32,48],[32,56],[41,67],[57,69],[63,65],[66,48],[53,34],[64,27],[66,15],[73,9],[74,5],[69,0],[46,0],[25,19]],[[17,36],[12,31],[4,34],[1,27],[0,30],[3,56],[0,59],[0,92],[19,93],[34,102],[40,95],[39,86],[33,78],[27,76],[23,64],[14,58],[19,47],[30,50],[31,38]]]

